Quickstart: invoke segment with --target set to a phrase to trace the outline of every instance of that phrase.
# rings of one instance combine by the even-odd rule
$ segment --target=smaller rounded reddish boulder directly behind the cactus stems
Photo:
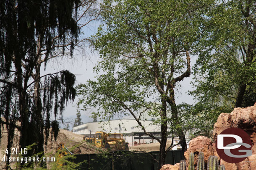
[[[207,162],[208,157],[211,155],[217,156],[217,152],[213,147],[211,140],[208,137],[204,137],[204,136],[196,137],[189,142],[188,150],[184,153],[184,157],[187,165],[189,160],[189,154],[191,152],[193,152],[195,155],[195,163],[194,163],[195,166],[198,161],[199,152],[204,152],[204,162]]]

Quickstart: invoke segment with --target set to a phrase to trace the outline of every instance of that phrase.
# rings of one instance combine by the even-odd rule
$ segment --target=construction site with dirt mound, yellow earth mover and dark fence
[[[171,141],[169,140],[167,146],[170,144]],[[7,135],[3,133],[0,157],[5,156],[6,147]],[[18,136],[14,137],[13,140],[13,148],[15,147],[18,147]],[[125,142],[122,134],[97,132],[95,137],[89,138],[85,135],[60,129],[56,141],[48,140],[47,147],[45,147],[45,155],[54,157],[58,151],[60,153],[57,159],[58,157],[74,155],[75,159],[72,162],[77,164],[84,162],[77,167],[78,170],[141,170],[144,168],[157,170],[156,160],[158,160],[159,156],[159,143],[130,147]],[[174,165],[182,159],[183,153],[179,150],[167,153],[167,163]],[[141,164],[141,162],[144,163]],[[15,165],[16,162],[11,162],[13,168]],[[5,162],[0,162],[0,168],[5,168]]]

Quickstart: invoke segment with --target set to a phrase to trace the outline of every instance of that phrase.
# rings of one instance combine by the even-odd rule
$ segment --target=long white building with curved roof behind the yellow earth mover
[[[161,138],[161,129],[159,125],[155,125],[152,121],[148,120],[141,120],[140,122],[145,127],[146,132],[153,134],[159,139]],[[73,127],[73,133],[82,134],[89,137],[93,137],[97,131],[107,133],[122,133],[125,137],[125,141],[129,143],[129,146],[134,146],[141,143],[157,142],[157,140],[153,140],[151,137],[144,134],[144,131],[138,126],[135,119],[117,119],[103,122],[90,122]],[[171,136],[168,136],[167,140],[171,140]],[[178,143],[178,141],[179,138],[175,137],[174,144]],[[174,147],[174,150],[178,148],[180,148],[180,146]]]

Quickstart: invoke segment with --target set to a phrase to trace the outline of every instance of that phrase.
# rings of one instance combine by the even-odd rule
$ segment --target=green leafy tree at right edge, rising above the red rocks
[[[216,1],[195,71],[194,96],[212,127],[222,112],[256,102],[256,1]]]

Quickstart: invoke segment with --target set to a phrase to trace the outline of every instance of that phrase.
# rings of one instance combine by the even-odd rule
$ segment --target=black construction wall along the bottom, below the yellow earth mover
[[[174,165],[184,159],[181,150],[167,152],[165,164]],[[159,152],[138,153],[115,151],[108,154],[75,155],[72,162],[83,162],[78,170],[158,170]]]

